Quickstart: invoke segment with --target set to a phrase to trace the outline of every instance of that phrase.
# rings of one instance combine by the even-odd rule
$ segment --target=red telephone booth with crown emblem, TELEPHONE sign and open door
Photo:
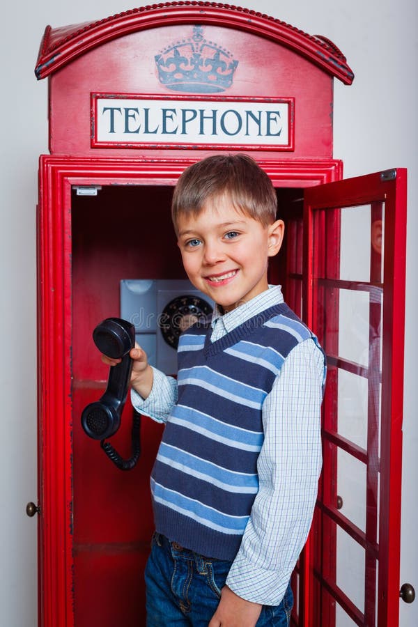
[[[181,293],[173,185],[203,156],[240,151],[269,174],[287,225],[270,279],[329,364],[323,476],[293,575],[293,625],[396,627],[405,171],[340,180],[332,87],[353,80],[345,57],[252,10],[173,2],[47,26],[36,76],[49,81],[50,151],[38,206],[39,624],[145,624],[161,429],[142,420],[130,472],[86,437],[82,409],[107,380],[91,334],[121,315],[121,281],[161,281],[162,291],[173,281]],[[127,455],[130,414],[128,402],[112,438]]]

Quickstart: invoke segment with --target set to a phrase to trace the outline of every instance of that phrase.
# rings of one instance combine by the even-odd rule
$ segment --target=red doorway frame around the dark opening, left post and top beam
[[[73,627],[71,187],[173,185],[191,160],[40,157],[38,206],[39,625]],[[277,187],[341,178],[338,160],[260,164]]]

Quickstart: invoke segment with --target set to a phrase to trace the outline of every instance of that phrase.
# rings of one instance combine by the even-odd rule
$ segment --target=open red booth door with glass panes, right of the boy
[[[304,196],[305,318],[328,366],[311,627],[398,626],[405,204],[403,169]]]

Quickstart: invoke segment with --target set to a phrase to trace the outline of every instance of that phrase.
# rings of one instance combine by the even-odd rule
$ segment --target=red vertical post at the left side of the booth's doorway
[[[70,210],[70,185],[55,175],[47,162],[41,162],[38,212],[40,617],[42,625],[50,626],[72,624],[72,607],[67,602],[72,596],[70,237],[65,220]],[[67,212],[50,211],[52,197],[54,205],[67,206]]]

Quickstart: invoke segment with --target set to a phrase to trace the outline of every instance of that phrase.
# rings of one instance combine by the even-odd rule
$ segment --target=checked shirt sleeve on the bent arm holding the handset
[[[177,380],[153,368],[153,387],[147,398],[142,398],[131,388],[132,406],[140,414],[149,416],[157,422],[167,422],[173,406],[177,403]]]

